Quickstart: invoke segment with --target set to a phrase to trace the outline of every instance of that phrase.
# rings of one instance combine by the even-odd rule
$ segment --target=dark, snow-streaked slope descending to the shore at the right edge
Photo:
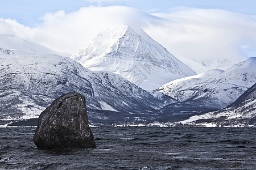
[[[256,84],[225,109],[193,116],[182,122],[201,125],[256,126]]]

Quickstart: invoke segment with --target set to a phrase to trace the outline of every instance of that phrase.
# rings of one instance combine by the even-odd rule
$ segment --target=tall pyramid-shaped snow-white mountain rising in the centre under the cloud
[[[122,75],[146,90],[195,75],[142,29],[129,26],[99,33],[71,57],[89,70],[106,70]]]

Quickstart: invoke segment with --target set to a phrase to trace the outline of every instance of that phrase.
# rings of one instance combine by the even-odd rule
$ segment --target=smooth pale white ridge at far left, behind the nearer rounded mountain
[[[69,56],[69,54],[55,52],[36,42],[27,41],[14,35],[6,34],[0,34],[0,48],[13,50],[15,53],[57,54]]]

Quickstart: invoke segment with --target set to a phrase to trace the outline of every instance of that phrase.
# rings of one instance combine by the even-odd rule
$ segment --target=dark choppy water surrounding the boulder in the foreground
[[[0,169],[256,169],[255,128],[92,128],[96,149],[38,150],[0,128]]]

